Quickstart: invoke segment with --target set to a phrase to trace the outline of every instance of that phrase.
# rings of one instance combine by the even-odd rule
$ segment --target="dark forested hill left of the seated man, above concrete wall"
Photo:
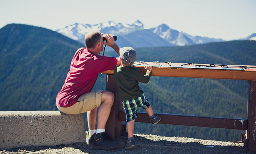
[[[81,43],[46,28],[0,29],[0,111],[56,110],[70,61]]]

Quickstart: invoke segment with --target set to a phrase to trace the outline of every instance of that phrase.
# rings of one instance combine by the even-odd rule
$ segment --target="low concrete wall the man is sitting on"
[[[83,115],[60,111],[0,111],[0,150],[85,142]]]

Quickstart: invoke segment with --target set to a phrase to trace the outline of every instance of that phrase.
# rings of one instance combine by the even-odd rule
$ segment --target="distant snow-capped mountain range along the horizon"
[[[187,33],[171,29],[166,24],[161,24],[154,28],[147,28],[139,20],[136,20],[132,24],[116,24],[113,21],[95,25],[75,23],[65,28],[58,29],[56,32],[84,43],[85,33],[91,29],[98,29],[101,33],[117,35],[117,44],[119,46],[132,46],[133,48],[186,46],[225,41],[223,39],[191,36]],[[253,36],[244,38],[244,40],[252,39],[252,37]]]

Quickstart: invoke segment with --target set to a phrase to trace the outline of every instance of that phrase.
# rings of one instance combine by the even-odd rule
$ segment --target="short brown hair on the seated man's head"
[[[85,47],[95,48],[97,43],[101,41],[102,34],[98,30],[92,30],[85,34]]]

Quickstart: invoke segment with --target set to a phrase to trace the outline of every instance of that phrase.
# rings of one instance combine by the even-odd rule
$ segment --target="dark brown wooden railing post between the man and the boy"
[[[126,131],[124,121],[119,121],[119,111],[123,110],[123,106],[121,104],[121,98],[115,83],[114,75],[106,75],[106,90],[112,91],[115,94],[114,104],[111,108],[105,128],[108,138],[114,140]]]

